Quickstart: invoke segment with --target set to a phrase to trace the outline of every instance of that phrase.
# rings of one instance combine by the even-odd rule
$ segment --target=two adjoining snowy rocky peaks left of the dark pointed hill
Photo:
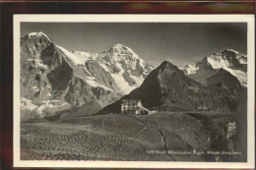
[[[71,106],[96,102],[103,107],[141,85],[152,69],[122,44],[100,53],[71,52],[43,32],[21,37],[24,108],[28,110],[26,103],[40,101],[33,103],[31,111],[42,103],[47,108],[46,101],[52,100]],[[54,110],[58,106],[55,103]],[[40,113],[45,116],[43,111]]]

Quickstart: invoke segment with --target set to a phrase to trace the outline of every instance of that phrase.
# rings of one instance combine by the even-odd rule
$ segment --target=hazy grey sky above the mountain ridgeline
[[[42,31],[69,50],[101,52],[116,43],[153,66],[164,60],[179,67],[232,48],[247,53],[245,23],[22,23],[21,35]]]

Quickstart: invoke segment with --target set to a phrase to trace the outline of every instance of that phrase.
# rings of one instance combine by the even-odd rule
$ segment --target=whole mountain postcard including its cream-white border
[[[253,16],[16,17],[23,165],[253,158]]]

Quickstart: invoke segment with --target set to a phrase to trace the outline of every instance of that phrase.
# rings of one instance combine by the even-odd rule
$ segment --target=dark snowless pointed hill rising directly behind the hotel
[[[188,78],[181,70],[164,61],[153,70],[144,83],[123,96],[119,101],[103,108],[98,114],[120,113],[123,99],[139,99],[148,108],[168,106],[171,109],[234,111],[235,99],[229,90],[219,86],[204,86]]]

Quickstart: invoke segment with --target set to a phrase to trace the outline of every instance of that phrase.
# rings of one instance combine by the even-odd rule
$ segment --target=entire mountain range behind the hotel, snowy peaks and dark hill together
[[[21,109],[25,120],[31,115],[119,112],[124,98],[141,99],[149,108],[236,111],[240,103],[246,104],[246,86],[247,57],[232,49],[195,65],[177,68],[164,61],[154,69],[119,43],[91,53],[69,51],[43,32],[21,37]],[[241,94],[244,97],[239,98]]]

